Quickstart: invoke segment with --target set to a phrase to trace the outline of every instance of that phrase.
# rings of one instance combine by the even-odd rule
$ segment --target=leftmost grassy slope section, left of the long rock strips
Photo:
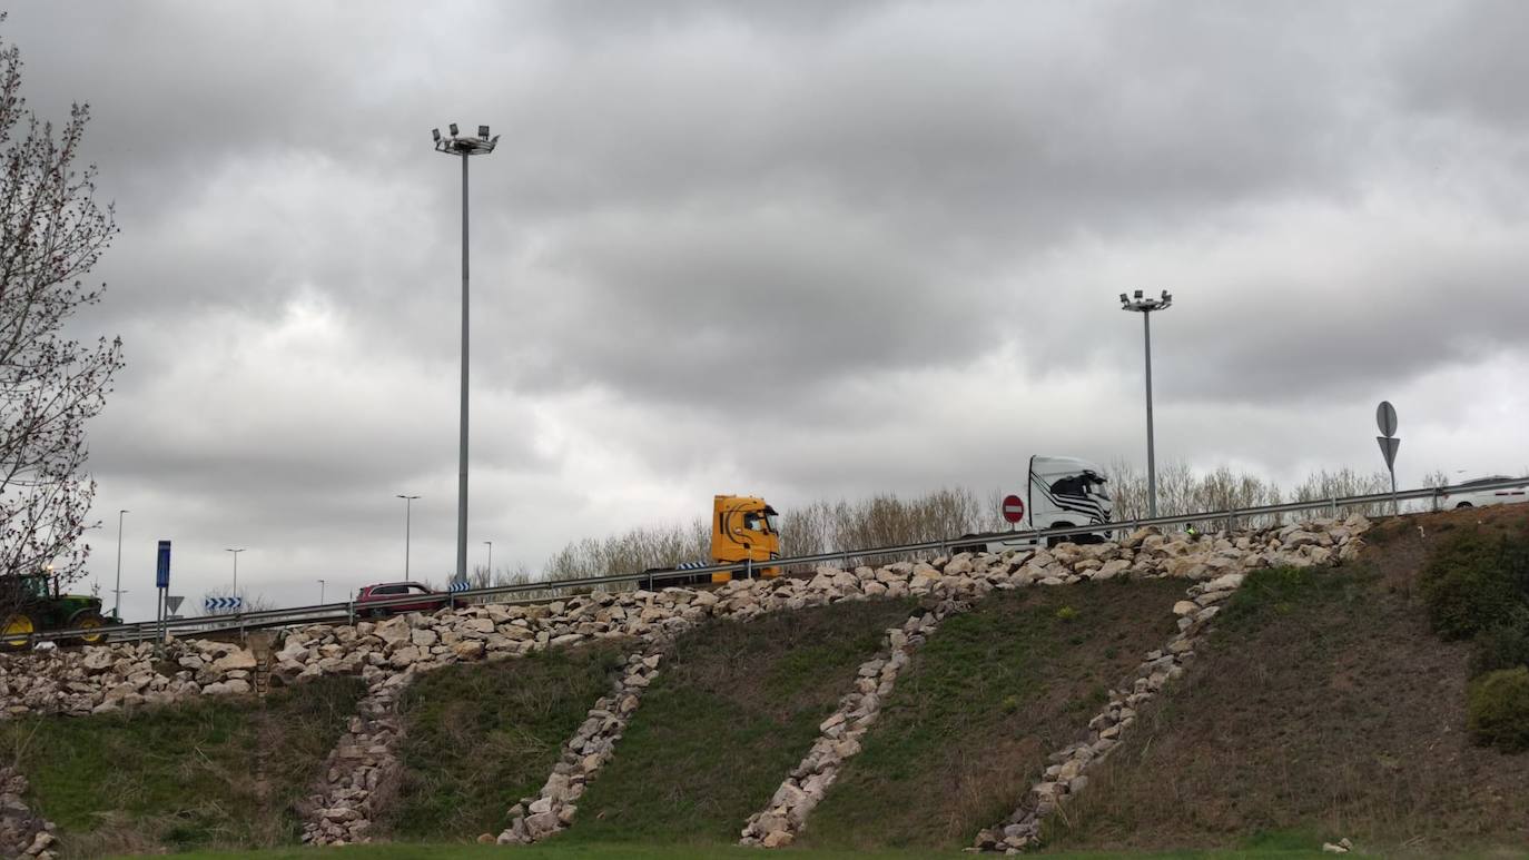
[[[320,678],[249,701],[0,723],[0,750],[73,855],[295,842],[307,788],[364,686]]]

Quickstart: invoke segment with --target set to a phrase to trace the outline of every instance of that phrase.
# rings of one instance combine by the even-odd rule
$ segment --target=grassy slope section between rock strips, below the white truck
[[[948,619],[807,822],[806,845],[969,845],[1173,635],[1182,596],[1183,582],[1162,580],[1032,588]]]

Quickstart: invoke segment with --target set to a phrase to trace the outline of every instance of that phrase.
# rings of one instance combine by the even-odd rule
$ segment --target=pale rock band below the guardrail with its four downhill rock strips
[[[1368,529],[1362,516],[1320,519],[1283,529],[1264,529],[1237,535],[1190,536],[1138,529],[1119,542],[1006,551],[1003,554],[960,553],[931,562],[898,562],[879,568],[859,567],[838,570],[821,567],[810,579],[781,577],[729,582],[714,591],[664,588],[661,591],[593,593],[541,605],[479,605],[442,609],[433,614],[411,613],[385,622],[356,625],[315,625],[286,632],[266,666],[255,655],[234,645],[203,640],[171,640],[161,651],[150,643],[106,645],[78,651],[47,651],[0,657],[0,718],[26,713],[90,713],[168,704],[206,695],[240,695],[252,690],[254,674],[269,671],[272,684],[301,683],[327,674],[361,675],[373,692],[396,695],[407,677],[451,663],[477,660],[508,660],[531,651],[567,648],[579,643],[630,637],[638,642],[659,642],[705,619],[746,620],[763,613],[800,609],[838,600],[878,597],[925,597],[925,606],[969,603],[992,590],[1032,585],[1053,587],[1113,577],[1180,577],[1205,582],[1191,590],[1182,602],[1182,634],[1167,643],[1162,652],[1148,655],[1142,675],[1130,690],[1112,697],[1109,707],[1090,723],[1086,745],[1073,745],[1058,753],[1055,773],[1037,784],[1020,810],[1003,826],[985,831],[979,845],[986,849],[1017,849],[1029,845],[1034,822],[1055,808],[1060,797],[1075,793],[1086,782],[1083,770],[1109,752],[1110,742],[1125,730],[1135,707],[1144,695],[1156,692],[1171,678],[1182,660],[1194,649],[1194,635],[1216,614],[1216,603],[1235,590],[1243,573],[1263,567],[1330,565],[1353,558],[1364,545],[1359,535]],[[922,625],[922,622],[920,622]],[[914,634],[902,631],[911,640]],[[927,631],[924,631],[927,632]],[[907,642],[902,648],[907,646]],[[890,654],[899,651],[896,637],[888,635]],[[644,661],[648,657],[644,657]],[[888,660],[896,660],[893,654]],[[907,660],[904,654],[902,660]],[[644,663],[645,664],[645,663]],[[846,700],[842,732],[856,723],[868,724],[879,690],[894,677],[891,663],[876,666],[862,684]],[[899,663],[901,668],[901,663]],[[645,684],[650,669],[628,664],[621,683]],[[867,669],[868,671],[868,669]],[[399,677],[405,678],[401,680]],[[875,684],[875,689],[862,687]],[[888,687],[890,692],[890,687]],[[368,693],[368,700],[373,698]],[[385,697],[384,697],[385,698]],[[365,701],[365,700],[364,700]],[[590,713],[592,733],[570,741],[567,761],[553,773],[541,796],[528,799],[506,831],[506,842],[535,839],[532,833],[543,823],[567,826],[573,816],[576,790],[609,758],[625,716],[621,709],[598,707]],[[635,697],[631,700],[635,703]],[[307,839],[312,842],[352,842],[367,839],[372,822],[373,794],[387,781],[393,762],[391,744],[398,727],[388,723],[391,700],[373,703],[379,707],[358,716],[352,726],[344,755],[336,748],[323,785],[310,799]],[[635,704],[633,704],[635,707]],[[609,713],[609,716],[607,716]],[[873,716],[870,716],[873,719]],[[833,741],[833,756],[809,752],[803,764],[783,784],[771,810],[751,820],[749,843],[766,842],[771,828],[760,828],[769,819],[774,825],[787,822],[784,833],[798,833],[806,813],[816,803],[832,778],[826,771],[842,762],[842,752],[853,744],[841,744],[835,727],[824,727]],[[850,738],[853,741],[853,738]],[[576,744],[584,747],[573,748]],[[595,744],[593,758],[586,750]],[[827,747],[824,747],[827,748]],[[572,758],[578,758],[573,762]],[[579,770],[583,768],[583,770]],[[827,768],[827,770],[826,770]],[[560,778],[566,778],[560,779]],[[818,778],[816,781],[813,781]],[[564,788],[564,782],[569,788]],[[800,794],[800,797],[798,797]],[[546,807],[544,810],[541,807]],[[512,810],[515,813],[515,810]],[[543,816],[543,817],[537,817]],[[550,816],[550,817],[547,817]],[[537,820],[532,825],[532,819]],[[465,834],[471,836],[471,834]],[[777,845],[789,842],[783,837]]]

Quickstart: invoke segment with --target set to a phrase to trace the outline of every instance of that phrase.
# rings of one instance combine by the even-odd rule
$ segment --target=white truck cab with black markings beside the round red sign
[[[1012,532],[963,535],[956,551],[1001,553],[1027,550],[1038,544],[1037,530],[1070,529],[1075,525],[1107,525],[1115,503],[1110,500],[1104,469],[1075,457],[1031,457],[1024,487],[1024,519]],[[1049,544],[1098,544],[1107,541],[1109,530],[1069,538],[1052,538]]]

